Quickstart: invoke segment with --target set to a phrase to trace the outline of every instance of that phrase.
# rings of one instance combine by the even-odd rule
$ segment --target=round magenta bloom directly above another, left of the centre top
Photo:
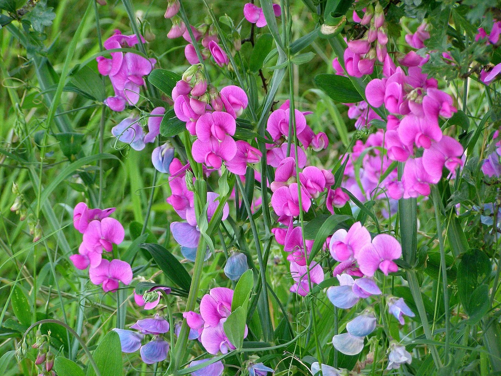
[[[222,141],[227,135],[235,134],[236,123],[227,112],[214,111],[203,114],[195,125],[197,137],[203,141]]]

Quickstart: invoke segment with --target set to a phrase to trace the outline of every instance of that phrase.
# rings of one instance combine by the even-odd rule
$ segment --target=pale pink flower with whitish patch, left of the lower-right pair
[[[329,250],[337,261],[346,261],[357,258],[362,248],[371,244],[371,235],[360,222],[354,223],[349,231],[339,229],[331,237]]]

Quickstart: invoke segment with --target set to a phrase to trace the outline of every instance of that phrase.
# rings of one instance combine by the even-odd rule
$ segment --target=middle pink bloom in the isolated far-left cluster
[[[92,221],[83,236],[83,243],[91,252],[102,253],[113,250],[113,244],[120,244],[124,240],[123,226],[114,218],[103,218],[101,221]]]

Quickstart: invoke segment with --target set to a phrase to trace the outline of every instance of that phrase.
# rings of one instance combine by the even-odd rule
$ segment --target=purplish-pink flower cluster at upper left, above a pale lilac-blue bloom
[[[145,40],[140,36],[141,41]],[[108,38],[103,46],[107,50],[133,47],[138,43],[136,35],[123,35],[119,30]],[[113,111],[123,111],[127,104],[139,101],[139,90],[145,84],[144,76],[150,74],[156,63],[155,59],[146,59],[132,52],[112,52],[111,59],[103,56],[96,58],[99,73],[109,76],[115,96],[108,97],[104,103]]]

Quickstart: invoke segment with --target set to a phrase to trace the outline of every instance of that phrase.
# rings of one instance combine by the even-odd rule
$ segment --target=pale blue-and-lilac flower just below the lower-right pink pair
[[[327,297],[335,307],[348,309],[357,304],[360,298],[381,294],[381,290],[371,278],[362,277],[354,280],[349,274],[338,274],[336,278],[339,286],[327,289]]]

